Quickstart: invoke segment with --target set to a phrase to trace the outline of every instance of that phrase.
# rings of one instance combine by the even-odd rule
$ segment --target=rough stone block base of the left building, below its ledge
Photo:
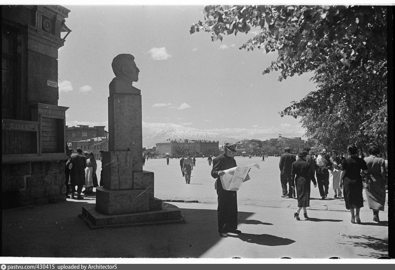
[[[66,200],[66,161],[2,164],[2,208]]]

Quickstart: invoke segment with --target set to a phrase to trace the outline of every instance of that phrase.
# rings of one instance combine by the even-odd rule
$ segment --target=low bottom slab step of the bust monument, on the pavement
[[[158,199],[156,200],[160,201]],[[147,212],[105,215],[96,210],[95,204],[88,204],[82,207],[82,214],[78,216],[81,217],[83,221],[85,221],[90,229],[185,222],[184,217],[181,215],[181,210],[177,206],[162,202],[161,207],[162,209],[160,210]]]

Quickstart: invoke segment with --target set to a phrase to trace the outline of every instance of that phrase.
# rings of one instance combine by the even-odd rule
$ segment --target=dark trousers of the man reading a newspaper
[[[237,191],[217,189],[218,232],[237,229]]]

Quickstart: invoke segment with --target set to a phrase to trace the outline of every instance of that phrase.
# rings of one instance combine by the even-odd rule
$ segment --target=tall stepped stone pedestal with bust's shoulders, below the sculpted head
[[[96,205],[83,206],[80,217],[91,228],[183,222],[177,206],[154,198],[154,173],[143,171],[140,90],[118,77],[109,88],[103,186],[96,188]]]

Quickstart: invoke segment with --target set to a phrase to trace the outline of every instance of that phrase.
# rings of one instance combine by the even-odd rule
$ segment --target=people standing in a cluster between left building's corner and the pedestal
[[[98,186],[96,176],[96,159],[93,152],[82,152],[81,148],[76,149],[76,153],[71,154],[73,149],[66,147],[66,154],[70,157],[66,162],[66,196],[71,199],[82,200],[81,193],[90,195],[93,187]],[[77,186],[77,197],[75,197],[75,186]],[[85,190],[82,191],[82,188]],[[68,194],[71,193],[71,196]]]

